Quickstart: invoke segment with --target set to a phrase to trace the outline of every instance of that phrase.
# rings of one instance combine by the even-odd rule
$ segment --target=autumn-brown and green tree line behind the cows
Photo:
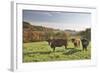
[[[91,29],[80,31],[77,35],[91,39]],[[47,28],[43,26],[31,25],[28,22],[23,21],[23,42],[37,42],[46,41],[48,39],[68,39],[71,36],[70,33],[59,29]]]

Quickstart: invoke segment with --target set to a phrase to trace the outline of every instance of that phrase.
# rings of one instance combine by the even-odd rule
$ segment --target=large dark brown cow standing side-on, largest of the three
[[[55,51],[56,47],[65,46],[65,49],[67,48],[67,40],[65,39],[52,39],[49,43],[50,47],[53,48],[53,51]]]

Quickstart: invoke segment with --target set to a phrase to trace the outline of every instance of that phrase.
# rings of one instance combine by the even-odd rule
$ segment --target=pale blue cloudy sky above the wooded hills
[[[23,21],[60,30],[81,31],[91,27],[91,14],[62,11],[23,10]]]

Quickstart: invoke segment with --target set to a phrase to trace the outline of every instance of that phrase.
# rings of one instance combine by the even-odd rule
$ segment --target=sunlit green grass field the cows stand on
[[[45,61],[67,61],[84,60],[91,58],[91,44],[88,51],[82,51],[82,47],[74,48],[71,42],[68,48],[64,46],[56,47],[56,51],[48,45],[47,42],[23,43],[23,62],[45,62]]]

